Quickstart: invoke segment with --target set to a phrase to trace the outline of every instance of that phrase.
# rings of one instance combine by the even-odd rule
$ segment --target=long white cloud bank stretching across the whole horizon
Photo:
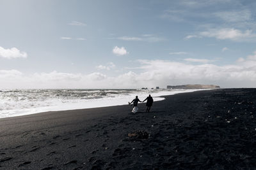
[[[136,71],[118,76],[102,73],[22,74],[17,70],[0,70],[0,89],[16,88],[140,88],[179,84],[216,84],[221,87],[255,87],[256,52],[240,58],[235,64],[218,66],[201,61],[138,60]],[[207,60],[205,60],[207,61]],[[19,82],[19,83],[17,83]]]

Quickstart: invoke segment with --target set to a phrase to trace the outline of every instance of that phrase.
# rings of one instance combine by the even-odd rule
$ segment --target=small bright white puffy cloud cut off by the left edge
[[[20,52],[20,50],[15,47],[5,49],[0,46],[0,57],[6,59],[26,58],[28,57],[28,54],[26,52]]]

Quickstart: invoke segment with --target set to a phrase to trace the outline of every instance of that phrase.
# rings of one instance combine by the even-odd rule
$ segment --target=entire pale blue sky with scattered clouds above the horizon
[[[256,1],[0,0],[0,89],[256,86]]]

